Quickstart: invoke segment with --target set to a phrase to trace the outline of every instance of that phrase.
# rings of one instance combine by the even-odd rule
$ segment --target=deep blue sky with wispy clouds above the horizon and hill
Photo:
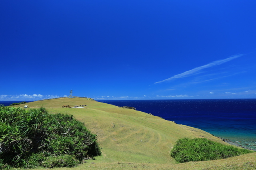
[[[0,101],[256,98],[254,0],[2,0]]]

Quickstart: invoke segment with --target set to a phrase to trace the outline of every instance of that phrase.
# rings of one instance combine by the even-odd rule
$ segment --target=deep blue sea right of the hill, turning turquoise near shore
[[[200,128],[256,149],[256,99],[99,101],[135,107],[177,124]]]

